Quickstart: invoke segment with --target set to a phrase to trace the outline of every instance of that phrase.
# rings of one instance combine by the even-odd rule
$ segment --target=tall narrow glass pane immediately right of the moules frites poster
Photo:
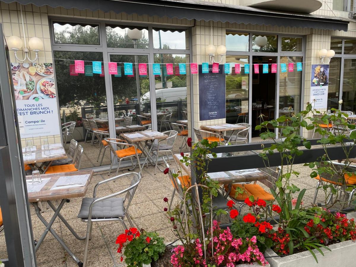
[[[330,60],[328,109],[339,108],[341,58],[333,57]]]

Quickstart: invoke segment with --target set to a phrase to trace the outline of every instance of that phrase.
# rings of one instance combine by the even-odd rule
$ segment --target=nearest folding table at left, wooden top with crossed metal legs
[[[72,226],[69,225],[66,219],[63,218],[61,215],[60,211],[63,208],[64,203],[69,202],[70,198],[82,198],[85,196],[85,193],[87,193],[88,186],[90,183],[91,178],[93,177],[93,170],[90,171],[77,171],[77,172],[67,172],[67,173],[51,173],[51,174],[42,174],[41,179],[42,183],[45,183],[45,185],[37,192],[30,192],[28,191],[28,201],[33,205],[35,208],[35,212],[37,217],[41,220],[41,222],[46,226],[45,231],[43,232],[42,236],[38,241],[35,241],[35,251],[38,250],[38,248],[41,246],[42,241],[45,239],[48,231],[51,232],[51,234],[56,238],[61,244],[61,246],[68,252],[68,254],[73,258],[75,262],[78,263],[78,266],[83,266],[83,263],[74,255],[74,253],[69,249],[69,247],[64,243],[64,241],[61,239],[61,237],[58,236],[56,231],[52,229],[52,225],[54,221],[56,220],[57,217],[62,220],[64,225],[67,226],[70,232],[78,239],[78,240],[85,240],[84,237],[80,237],[72,228]],[[51,190],[52,187],[54,187],[55,183],[59,179],[59,177],[66,177],[66,176],[81,176],[85,181],[84,186],[78,186],[77,187],[71,187],[71,188],[61,188],[61,189],[53,189]],[[74,179],[75,177],[73,177]],[[31,182],[32,176],[26,176],[26,181]],[[47,180],[49,179],[49,180]],[[41,183],[41,184],[42,184]],[[38,185],[38,184],[37,184]],[[73,184],[74,185],[74,184]],[[29,185],[27,185],[27,190],[29,190]],[[58,205],[56,208],[52,201],[53,200],[59,200],[61,199],[61,203]],[[41,215],[40,208],[38,207],[38,203],[40,201],[47,201],[48,205],[52,208],[54,211],[54,215],[52,218],[47,222],[45,218]]]

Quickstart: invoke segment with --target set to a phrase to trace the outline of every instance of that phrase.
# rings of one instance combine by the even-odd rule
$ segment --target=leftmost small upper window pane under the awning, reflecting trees
[[[53,22],[54,42],[100,45],[99,26],[87,23]]]

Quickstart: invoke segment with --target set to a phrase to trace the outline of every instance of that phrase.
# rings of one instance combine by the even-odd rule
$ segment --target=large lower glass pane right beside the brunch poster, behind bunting
[[[84,150],[80,168],[99,166],[100,162],[96,159],[99,155],[98,145],[100,143],[94,138],[94,142],[98,144],[90,145],[88,141],[91,141],[92,135],[89,132],[87,134],[83,119],[94,120],[98,128],[108,129],[105,79],[100,74],[85,75],[70,70],[74,67],[75,59],[84,60],[85,66],[92,69],[91,61],[103,61],[103,53],[75,51],[54,51],[53,53],[54,58],[61,58],[54,60],[61,121],[62,123],[76,122],[73,138],[83,146]],[[87,137],[87,142],[84,142],[85,137]],[[106,150],[102,165],[110,163],[110,152]]]

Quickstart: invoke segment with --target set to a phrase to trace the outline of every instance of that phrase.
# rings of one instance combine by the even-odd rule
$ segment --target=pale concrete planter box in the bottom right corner
[[[315,261],[313,255],[309,251],[304,251],[285,257],[276,257],[277,254],[274,253],[274,251],[271,249],[268,249],[265,252],[265,257],[271,267],[355,266],[355,241],[348,240],[330,245],[328,247],[331,249],[331,251],[326,250],[325,248],[320,248],[321,251],[323,251],[324,256],[321,255],[317,250],[313,250],[319,263]]]

